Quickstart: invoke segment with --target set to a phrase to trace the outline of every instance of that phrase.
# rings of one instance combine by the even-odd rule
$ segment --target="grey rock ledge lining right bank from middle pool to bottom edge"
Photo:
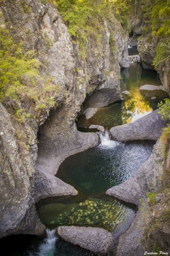
[[[162,145],[160,141],[157,141],[152,155],[143,163],[133,178],[106,191],[107,195],[139,206],[139,211],[131,227],[119,238],[117,256],[143,256],[144,249],[141,239],[145,227],[145,212],[147,211],[146,194],[148,191],[159,191],[163,170]]]

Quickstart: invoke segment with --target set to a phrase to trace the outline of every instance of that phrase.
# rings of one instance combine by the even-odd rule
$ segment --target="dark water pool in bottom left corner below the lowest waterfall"
[[[0,239],[2,256],[94,256],[61,238],[45,243],[43,236],[16,235]]]

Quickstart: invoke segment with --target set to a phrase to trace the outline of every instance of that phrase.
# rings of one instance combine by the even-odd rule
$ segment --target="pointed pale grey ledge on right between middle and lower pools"
[[[147,191],[160,188],[159,177],[163,172],[163,164],[162,146],[160,141],[157,141],[152,155],[141,165],[134,177],[108,189],[106,195],[112,195],[125,202],[140,206],[146,198]]]

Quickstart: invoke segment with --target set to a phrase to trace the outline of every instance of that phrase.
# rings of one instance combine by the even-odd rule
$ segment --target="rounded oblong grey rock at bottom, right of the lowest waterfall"
[[[57,232],[67,242],[78,244],[97,255],[106,255],[113,243],[112,234],[103,228],[59,227]]]

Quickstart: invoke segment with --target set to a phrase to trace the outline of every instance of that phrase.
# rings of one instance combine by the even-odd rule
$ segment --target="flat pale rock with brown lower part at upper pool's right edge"
[[[168,93],[164,89],[164,86],[156,86],[153,84],[145,84],[139,88],[141,94],[146,98],[157,97],[159,99],[169,98]]]

